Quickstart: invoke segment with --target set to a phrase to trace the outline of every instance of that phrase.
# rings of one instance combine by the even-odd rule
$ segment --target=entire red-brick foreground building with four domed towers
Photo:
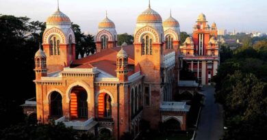
[[[186,130],[186,102],[174,102],[179,81],[179,23],[149,8],[136,22],[134,44],[117,46],[115,24],[99,23],[97,53],[75,59],[71,20],[58,10],[47,19],[43,50],[35,55],[40,123],[55,120],[77,130],[140,133],[140,120],[157,129],[176,120]]]

